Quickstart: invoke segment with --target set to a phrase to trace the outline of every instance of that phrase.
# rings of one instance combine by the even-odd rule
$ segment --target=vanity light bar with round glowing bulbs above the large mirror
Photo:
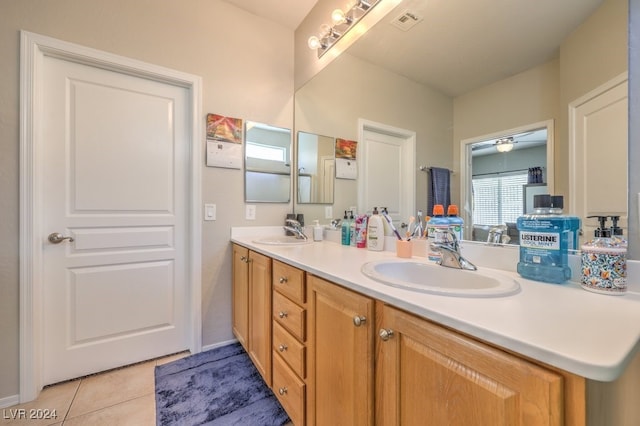
[[[331,13],[331,23],[320,26],[318,35],[309,37],[309,49],[316,50],[318,58],[331,48],[347,31],[353,28],[376,4],[382,0],[355,0],[349,3],[347,12],[335,9]]]

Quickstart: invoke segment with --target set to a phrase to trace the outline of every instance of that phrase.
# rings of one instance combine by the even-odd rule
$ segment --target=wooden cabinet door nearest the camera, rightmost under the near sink
[[[376,424],[563,424],[561,375],[398,309],[378,307],[386,336],[376,339]]]

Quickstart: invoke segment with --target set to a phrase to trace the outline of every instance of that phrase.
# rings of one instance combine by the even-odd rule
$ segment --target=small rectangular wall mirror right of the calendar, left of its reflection
[[[291,199],[291,130],[247,121],[244,150],[245,201],[288,203]]]

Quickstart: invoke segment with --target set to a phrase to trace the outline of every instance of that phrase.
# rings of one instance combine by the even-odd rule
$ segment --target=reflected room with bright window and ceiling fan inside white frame
[[[471,144],[471,240],[519,244],[516,220],[547,190],[547,128],[504,134]]]

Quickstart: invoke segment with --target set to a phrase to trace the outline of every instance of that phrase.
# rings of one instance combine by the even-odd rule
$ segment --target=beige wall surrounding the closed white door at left
[[[185,7],[188,5],[188,7]],[[18,394],[19,31],[196,74],[203,114],[293,127],[293,30],[220,0],[3,0],[0,3],[0,401]],[[202,117],[204,123],[204,116]],[[202,142],[204,150],[204,142]],[[245,221],[243,173],[203,167],[203,344],[232,339],[231,226],[280,223],[291,204]]]

